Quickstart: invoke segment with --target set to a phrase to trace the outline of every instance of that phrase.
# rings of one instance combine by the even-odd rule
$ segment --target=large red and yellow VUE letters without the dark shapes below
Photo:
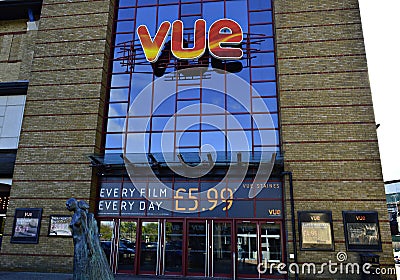
[[[154,38],[151,38],[147,26],[140,25],[137,28],[140,43],[147,61],[156,62],[165,45],[165,41],[171,29],[171,23],[161,23]],[[187,47],[183,39],[183,22],[176,20],[172,23],[171,52],[182,60],[200,58],[206,51],[206,21],[198,19],[194,26],[193,47]],[[231,19],[219,19],[211,24],[208,30],[208,50],[210,54],[221,60],[240,59],[243,51],[239,45],[243,40],[243,32],[240,25]],[[186,46],[185,46],[186,45]]]

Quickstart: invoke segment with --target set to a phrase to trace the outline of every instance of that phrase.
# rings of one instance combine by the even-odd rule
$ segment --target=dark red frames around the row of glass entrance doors
[[[284,222],[279,219],[233,219],[233,218],[184,218],[184,217],[164,217],[164,218],[123,218],[123,219],[101,219],[101,221],[113,221],[114,230],[112,238],[112,248],[111,250],[111,264],[114,273],[127,273],[135,275],[166,275],[166,276],[201,276],[201,277],[241,277],[241,278],[277,278],[285,279],[285,275],[269,275],[269,274],[240,274],[238,273],[238,263],[239,255],[238,250],[238,224],[243,222],[250,222],[256,224],[257,229],[257,260],[260,262],[262,260],[262,238],[261,238],[261,225],[264,223],[276,223],[280,225],[281,234],[281,261],[285,262],[286,252],[285,252],[285,235],[284,233]],[[136,222],[136,253],[135,260],[133,263],[133,270],[120,270],[118,268],[118,245],[120,241],[120,226],[122,222]],[[156,267],[153,271],[143,271],[140,269],[140,258],[142,254],[141,242],[142,242],[142,223],[143,222],[157,222],[158,223],[158,242],[157,242],[157,254],[158,260],[156,260]],[[165,243],[166,243],[166,223],[167,222],[181,222],[183,229],[182,236],[182,270],[179,273],[176,272],[165,272]],[[205,225],[205,268],[204,273],[190,273],[188,272],[188,258],[189,258],[189,224],[190,223],[202,223]],[[215,273],[214,270],[214,224],[215,223],[230,223],[231,224],[231,274]]]

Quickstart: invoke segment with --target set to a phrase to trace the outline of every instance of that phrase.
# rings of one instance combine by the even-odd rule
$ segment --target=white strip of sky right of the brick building
[[[359,0],[384,181],[400,179],[400,0]],[[388,192],[400,191],[391,184]]]

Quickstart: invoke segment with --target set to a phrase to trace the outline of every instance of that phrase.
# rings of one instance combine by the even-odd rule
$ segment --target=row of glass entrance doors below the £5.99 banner
[[[282,261],[279,222],[116,219],[100,225],[116,273],[259,278],[260,262]]]

